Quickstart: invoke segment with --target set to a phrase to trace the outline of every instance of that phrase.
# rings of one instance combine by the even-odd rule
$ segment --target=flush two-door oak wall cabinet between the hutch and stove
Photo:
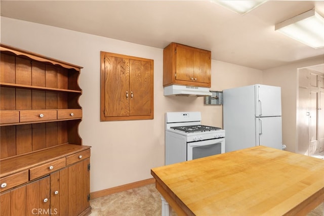
[[[100,120],[153,119],[153,60],[100,52]]]

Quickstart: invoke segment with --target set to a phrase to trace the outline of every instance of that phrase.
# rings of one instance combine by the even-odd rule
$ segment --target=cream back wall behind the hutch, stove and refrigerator
[[[79,134],[92,146],[91,192],[152,178],[150,169],[164,165],[165,112],[201,111],[203,124],[222,127],[222,106],[204,105],[203,97],[163,96],[162,49],[6,17],[1,43],[84,67]],[[153,120],[100,122],[100,51],[154,60]],[[262,83],[262,71],[212,61],[211,90],[255,83]]]

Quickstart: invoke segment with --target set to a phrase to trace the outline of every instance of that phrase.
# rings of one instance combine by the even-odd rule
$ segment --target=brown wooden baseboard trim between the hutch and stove
[[[120,186],[113,187],[113,188],[107,188],[107,189],[104,189],[101,191],[91,192],[90,199],[96,199],[96,198],[99,198],[102,196],[107,196],[107,195],[118,193],[121,191],[127,191],[127,190],[130,190],[133,188],[138,188],[138,187],[142,187],[142,186],[153,184],[153,183],[155,183],[155,179],[151,178],[151,179],[141,180],[138,182],[129,183],[126,185],[120,185]]]

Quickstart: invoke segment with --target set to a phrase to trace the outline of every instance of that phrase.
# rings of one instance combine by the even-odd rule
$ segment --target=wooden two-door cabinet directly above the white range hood
[[[163,51],[163,86],[211,87],[211,51],[172,42]]]

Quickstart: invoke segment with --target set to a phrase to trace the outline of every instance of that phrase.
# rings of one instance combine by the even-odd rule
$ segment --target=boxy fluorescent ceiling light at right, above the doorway
[[[324,48],[324,18],[315,9],[276,24],[274,30],[312,48]]]

